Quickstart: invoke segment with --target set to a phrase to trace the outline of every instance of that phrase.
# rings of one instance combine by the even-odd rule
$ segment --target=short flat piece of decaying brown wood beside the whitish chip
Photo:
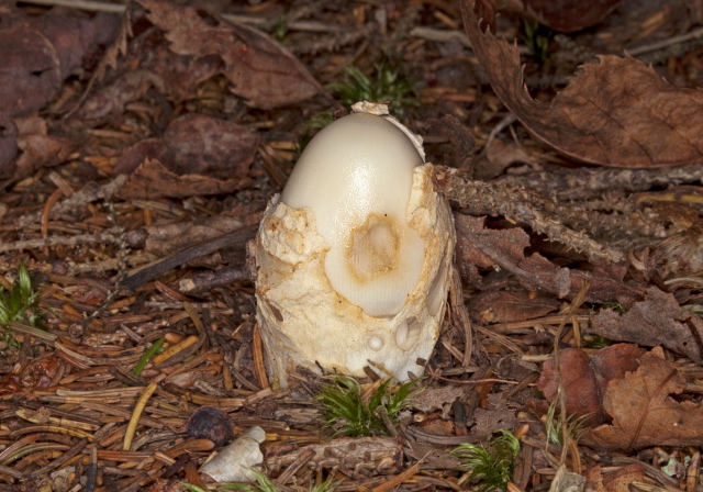
[[[295,445],[271,446],[266,452],[266,467],[278,473],[309,451],[314,455],[305,463],[306,468],[347,468],[361,476],[390,474],[401,470],[403,447],[392,437],[343,437],[325,444],[304,447]]]

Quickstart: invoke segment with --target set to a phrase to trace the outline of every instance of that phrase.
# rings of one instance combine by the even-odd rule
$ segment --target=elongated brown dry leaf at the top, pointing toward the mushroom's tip
[[[140,0],[149,21],[166,32],[170,49],[196,58],[219,56],[232,92],[247,104],[271,109],[292,104],[324,89],[305,67],[267,34],[243,24],[207,22],[196,9],[161,0]]]

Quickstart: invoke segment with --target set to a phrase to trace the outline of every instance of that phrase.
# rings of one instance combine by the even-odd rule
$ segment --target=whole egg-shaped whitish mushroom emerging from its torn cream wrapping
[[[456,241],[431,167],[422,138],[384,104],[356,103],[310,142],[253,243],[274,384],[287,387],[295,366],[422,374]]]

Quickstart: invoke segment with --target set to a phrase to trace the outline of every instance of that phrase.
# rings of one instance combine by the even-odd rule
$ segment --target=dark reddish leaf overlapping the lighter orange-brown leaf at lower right
[[[645,353],[636,345],[617,344],[600,349],[593,357],[580,348],[567,348],[559,353],[559,367],[569,415],[587,416],[590,424],[605,422],[603,394],[607,383],[620,379],[638,367],[638,358]],[[542,367],[537,383],[548,401],[557,396],[559,382],[555,359]]]

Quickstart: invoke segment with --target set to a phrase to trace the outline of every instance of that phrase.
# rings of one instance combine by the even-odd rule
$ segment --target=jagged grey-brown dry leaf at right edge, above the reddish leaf
[[[702,360],[696,339],[703,335],[703,322],[682,309],[673,294],[656,287],[623,315],[611,309],[601,311],[584,332],[649,347],[662,345],[698,364]]]

